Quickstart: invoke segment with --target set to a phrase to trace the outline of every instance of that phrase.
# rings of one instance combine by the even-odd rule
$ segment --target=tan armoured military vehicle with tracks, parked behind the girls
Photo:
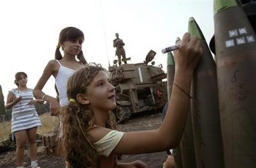
[[[168,101],[167,81],[163,80],[167,74],[162,66],[155,66],[155,54],[150,50],[143,62],[118,66],[114,60],[109,66],[109,82],[116,87],[117,108],[112,112],[119,124],[131,114],[161,110]]]

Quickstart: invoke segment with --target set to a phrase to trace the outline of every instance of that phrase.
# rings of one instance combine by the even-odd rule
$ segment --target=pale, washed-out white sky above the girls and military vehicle
[[[0,85],[6,102],[16,88],[14,75],[28,75],[34,88],[49,60],[55,58],[59,32],[73,26],[84,32],[82,50],[87,62],[113,65],[118,33],[124,41],[128,63],[143,62],[150,50],[157,52],[155,65],[166,72],[167,54],[188,31],[194,17],[209,44],[214,34],[213,0],[12,0],[0,2]],[[55,97],[55,79],[43,88]]]

